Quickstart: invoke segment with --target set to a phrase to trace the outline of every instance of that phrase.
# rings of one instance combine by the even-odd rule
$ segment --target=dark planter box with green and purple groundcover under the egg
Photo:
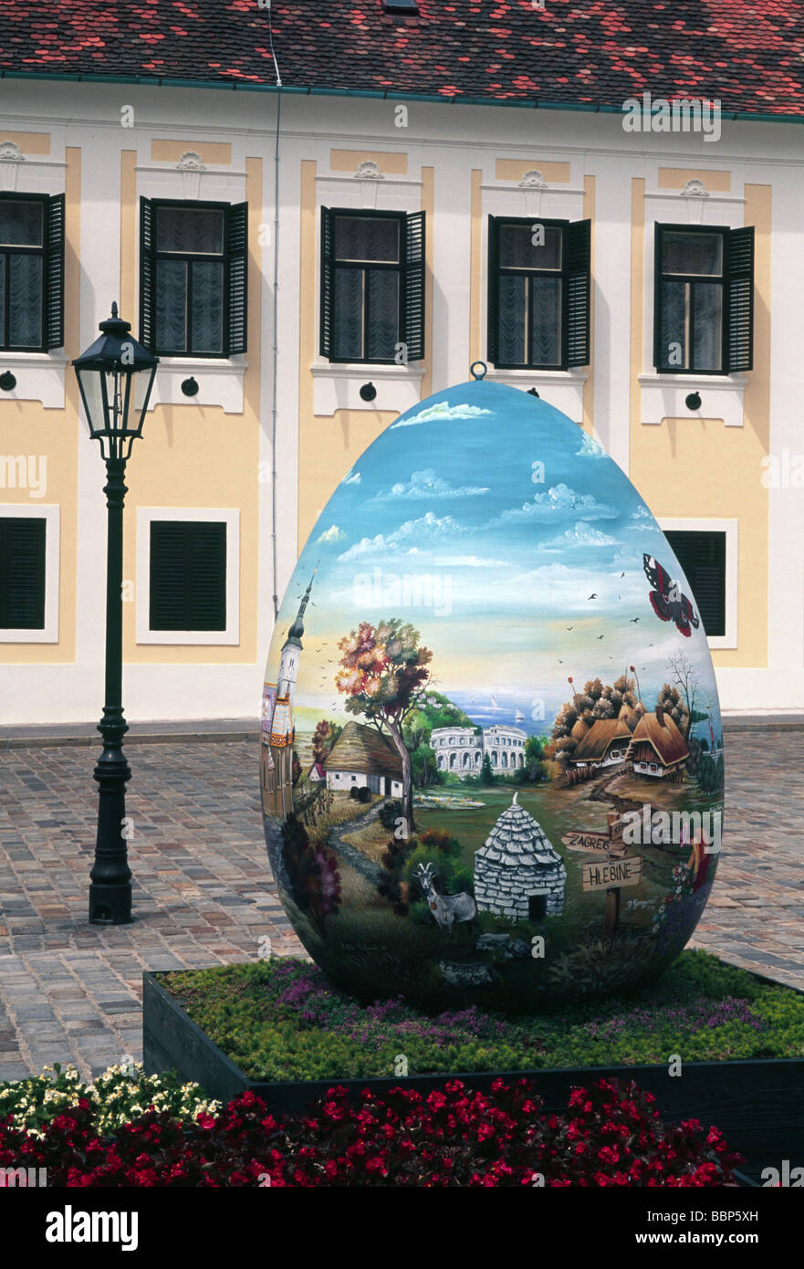
[[[716,1123],[753,1181],[800,1152],[803,1020],[800,992],[703,952],[629,1000],[514,1019],[363,1009],[298,961],[143,976],[146,1070],[176,1070],[224,1101],[247,1090],[274,1114],[298,1113],[334,1081],[354,1104],[369,1079],[378,1095],[405,1076],[426,1096],[453,1079],[488,1094],[497,1077],[528,1077],[559,1114],[577,1086],[635,1080],[667,1122]]]

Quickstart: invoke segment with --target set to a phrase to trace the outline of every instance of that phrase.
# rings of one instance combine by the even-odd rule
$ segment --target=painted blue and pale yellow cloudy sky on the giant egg
[[[645,552],[682,579],[634,486],[572,420],[519,390],[459,385],[387,428],[336,489],[288,586],[269,678],[317,566],[299,707],[337,712],[336,666],[322,680],[322,664],[359,622],[396,615],[432,650],[434,687],[478,722],[495,721],[493,695],[496,721],[517,709],[540,731],[534,700],[549,721],[568,675],[611,681],[629,665],[653,708],[676,652],[716,718],[703,627],[685,638],[656,617]]]

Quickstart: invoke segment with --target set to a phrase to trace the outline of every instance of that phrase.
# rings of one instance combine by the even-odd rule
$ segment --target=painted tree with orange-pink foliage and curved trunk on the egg
[[[346,712],[363,714],[383,731],[387,728],[402,759],[402,815],[413,822],[411,755],[402,727],[418,706],[430,679],[432,652],[418,646],[420,634],[399,617],[372,626],[360,622],[356,631],[339,642],[340,669],[335,684],[346,700]]]

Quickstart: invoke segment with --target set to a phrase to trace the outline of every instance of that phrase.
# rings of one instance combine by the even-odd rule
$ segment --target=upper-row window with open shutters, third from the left
[[[425,213],[321,208],[321,355],[417,362],[425,339]]]

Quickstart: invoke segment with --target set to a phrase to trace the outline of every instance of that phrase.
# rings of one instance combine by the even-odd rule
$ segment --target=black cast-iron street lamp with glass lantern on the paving
[[[100,322],[100,339],[76,357],[75,373],[89,423],[107,463],[107,662],[105,704],[98,731],[103,754],[94,777],[99,786],[98,840],[90,873],[89,919],[98,925],[131,921],[131,868],[126,846],[126,782],[131,768],[123,755],[128,726],[123,717],[123,501],[126,462],[134,437],[142,435],[159,357],[129,335],[131,322]]]

